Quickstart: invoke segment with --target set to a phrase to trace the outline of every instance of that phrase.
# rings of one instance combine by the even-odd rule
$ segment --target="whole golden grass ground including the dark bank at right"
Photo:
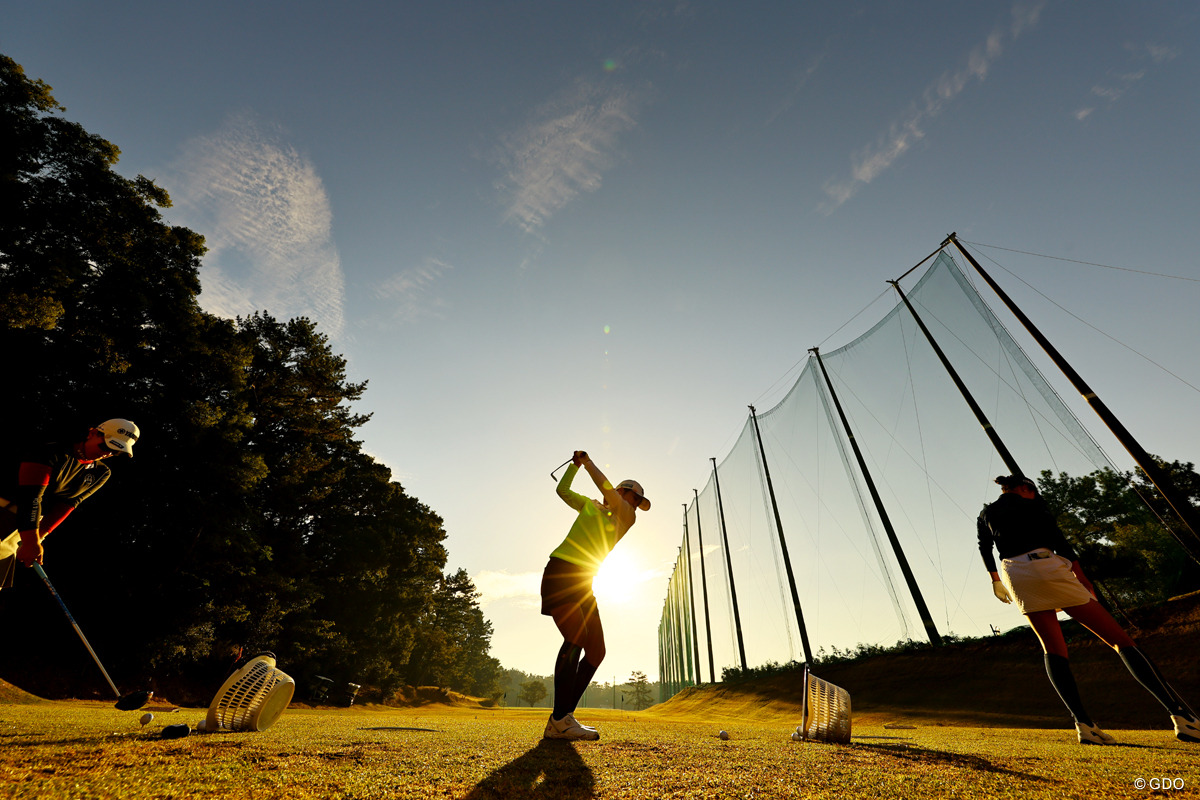
[[[1198,698],[1196,599],[1135,620]],[[289,709],[263,733],[164,740],[200,709],[40,700],[0,681],[0,798],[1184,798],[1200,745],[1103,645],[1074,632],[1085,699],[1117,738],[1082,747],[1026,637],[830,664],[854,697],[848,745],[793,742],[793,678],[689,690],[638,714],[582,709],[598,742],[544,741],[546,709],[473,703]],[[719,730],[730,739],[718,738]]]

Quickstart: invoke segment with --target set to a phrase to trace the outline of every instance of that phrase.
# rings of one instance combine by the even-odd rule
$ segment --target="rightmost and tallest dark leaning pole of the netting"
[[[959,241],[956,234],[952,233],[947,236],[946,241],[942,242],[942,247],[946,247],[948,243],[953,243],[958,251],[962,253],[962,257],[971,263],[971,266],[979,273],[979,277],[982,277],[984,282],[991,287],[992,291],[996,293],[1001,301],[1008,306],[1008,309],[1013,312],[1013,315],[1016,317],[1018,320],[1020,320],[1021,325],[1025,326],[1025,330],[1030,332],[1030,336],[1032,336],[1042,349],[1045,350],[1046,355],[1050,356],[1050,360],[1055,362],[1055,366],[1062,371],[1062,374],[1067,377],[1067,380],[1072,383],[1075,390],[1084,396],[1084,399],[1092,407],[1092,410],[1096,411],[1097,416],[1100,417],[1104,425],[1108,426],[1109,431],[1112,432],[1112,435],[1117,438],[1126,451],[1128,451],[1128,453],[1133,457],[1134,462],[1138,463],[1141,471],[1146,474],[1146,477],[1150,479],[1151,483],[1154,485],[1154,488],[1158,489],[1159,494],[1163,495],[1163,499],[1166,500],[1168,505],[1171,506],[1171,510],[1175,511],[1176,516],[1178,516],[1190,531],[1192,539],[1196,540],[1188,541],[1177,534],[1175,535],[1175,539],[1183,546],[1183,549],[1186,549],[1194,560],[1200,563],[1200,552],[1198,552],[1196,546],[1198,541],[1200,541],[1200,512],[1198,512],[1188,498],[1175,487],[1175,483],[1166,475],[1166,473],[1159,468],[1159,465],[1154,462],[1154,458],[1146,452],[1136,439],[1134,439],[1133,434],[1129,433],[1116,415],[1109,410],[1109,407],[1104,404],[1104,401],[1102,401],[1096,392],[1092,391],[1091,386],[1084,381],[1082,377],[1075,372],[1074,367],[1067,363],[1067,360],[1050,343],[1050,339],[1048,339],[1042,331],[1038,330],[1037,325],[1034,325],[1033,321],[1025,315],[1025,312],[1022,312],[1016,303],[1013,302],[1013,299],[1000,288],[1000,284],[996,283],[986,271],[984,271],[983,266],[979,265],[979,261],[974,259],[974,255],[967,252],[967,249]],[[1166,525],[1166,528],[1168,530],[1171,530],[1170,525]],[[1174,533],[1175,531],[1172,531],[1172,534]]]

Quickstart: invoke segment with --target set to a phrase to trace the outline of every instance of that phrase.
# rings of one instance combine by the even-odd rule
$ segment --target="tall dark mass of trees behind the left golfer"
[[[118,148],[62,110],[0,55],[0,446],[108,417],[142,428],[46,541],[109,673],[206,702],[239,652],[271,650],[298,699],[317,675],[493,693],[492,626],[468,576],[443,572],[442,519],[355,438],[366,384],[308,319],[202,311],[204,239],[164,223],[167,193],[114,172]],[[107,693],[32,571],[17,578],[0,676]]]

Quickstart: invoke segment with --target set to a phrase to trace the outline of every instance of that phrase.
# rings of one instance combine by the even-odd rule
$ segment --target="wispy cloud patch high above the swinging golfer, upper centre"
[[[498,190],[505,222],[535,233],[581,192],[600,188],[640,106],[637,92],[614,79],[581,79],[504,137]]]

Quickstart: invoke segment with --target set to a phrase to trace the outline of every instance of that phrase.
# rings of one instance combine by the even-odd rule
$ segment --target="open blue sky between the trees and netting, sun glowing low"
[[[506,667],[557,651],[533,596],[571,522],[548,471],[587,449],[643,483],[601,595],[599,679],[624,680],[658,670],[680,506],[746,404],[952,230],[1074,259],[991,251],[1142,444],[1200,461],[1198,17],[44,0],[0,6],[0,52],[206,236],[206,308],[310,315],[370,380],[365,446],[444,517]]]

